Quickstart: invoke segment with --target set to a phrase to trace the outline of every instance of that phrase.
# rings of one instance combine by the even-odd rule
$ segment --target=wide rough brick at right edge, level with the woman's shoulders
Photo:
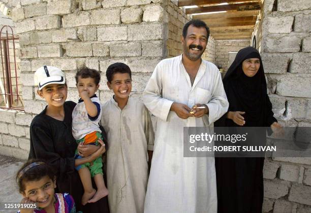
[[[277,81],[276,94],[281,96],[311,98],[311,78],[286,75]]]

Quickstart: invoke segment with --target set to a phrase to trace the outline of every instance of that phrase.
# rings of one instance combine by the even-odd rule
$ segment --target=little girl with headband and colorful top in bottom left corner
[[[19,213],[74,213],[75,202],[71,195],[54,193],[56,176],[51,166],[37,159],[28,160],[17,172],[21,204],[34,208],[21,208]]]

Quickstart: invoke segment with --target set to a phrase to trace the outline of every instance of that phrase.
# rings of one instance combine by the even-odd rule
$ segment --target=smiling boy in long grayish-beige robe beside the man
[[[129,97],[132,78],[128,65],[111,64],[106,76],[107,85],[114,92],[113,97],[102,105],[101,119],[109,144],[107,187],[110,212],[143,212],[148,154],[151,156],[149,151],[153,150],[154,139],[150,115],[142,102]]]

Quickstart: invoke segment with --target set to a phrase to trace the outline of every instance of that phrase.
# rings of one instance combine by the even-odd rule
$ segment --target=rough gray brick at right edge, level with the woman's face
[[[295,53],[290,66],[290,73],[311,74],[311,53]]]

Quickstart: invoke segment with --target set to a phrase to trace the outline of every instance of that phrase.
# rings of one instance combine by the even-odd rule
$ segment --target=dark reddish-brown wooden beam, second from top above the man
[[[186,14],[232,11],[232,10],[242,9],[242,7],[250,7],[250,6],[254,10],[260,9],[259,3],[250,2],[250,3],[232,4],[232,5],[219,5],[219,6],[210,6],[210,7],[187,8]],[[250,9],[250,8],[248,8],[248,9]]]

